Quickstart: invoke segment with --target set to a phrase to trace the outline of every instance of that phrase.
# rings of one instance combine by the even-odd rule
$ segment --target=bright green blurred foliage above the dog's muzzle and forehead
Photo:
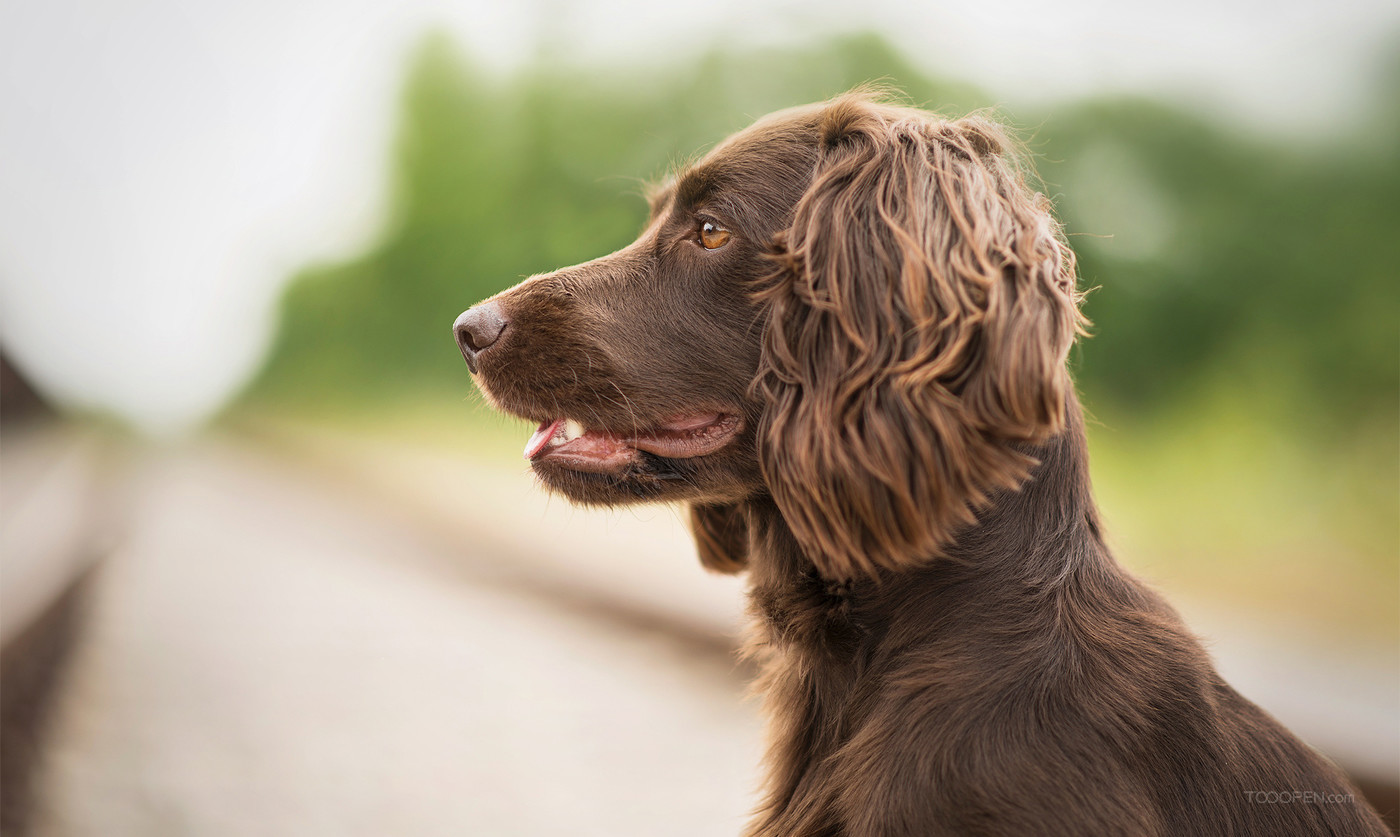
[[[403,94],[388,230],[363,258],[290,283],[244,400],[351,405],[461,386],[449,326],[462,309],[624,245],[645,220],[647,181],[755,116],[895,73],[918,101],[976,98],[920,80],[871,36],[798,56],[717,50],[641,78],[539,67],[505,83],[430,38]]]

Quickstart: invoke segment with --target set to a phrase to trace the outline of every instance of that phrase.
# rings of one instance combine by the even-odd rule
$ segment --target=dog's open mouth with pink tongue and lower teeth
[[[651,453],[666,459],[693,459],[713,453],[743,430],[729,413],[675,416],[657,427],[630,434],[589,428],[574,418],[546,418],[525,442],[531,463],[559,465],[596,473],[615,473]]]

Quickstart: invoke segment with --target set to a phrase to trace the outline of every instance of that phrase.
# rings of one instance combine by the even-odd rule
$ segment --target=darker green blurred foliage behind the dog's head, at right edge
[[[1400,155],[1250,141],[1151,102],[1082,105],[1042,134],[1099,286],[1086,388],[1151,410],[1224,377],[1305,421],[1393,410]]]

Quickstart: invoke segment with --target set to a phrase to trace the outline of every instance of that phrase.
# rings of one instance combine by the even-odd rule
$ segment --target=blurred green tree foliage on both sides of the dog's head
[[[1386,85],[1394,99],[1397,78]],[[403,95],[388,228],[363,258],[288,286],[246,398],[363,403],[463,389],[458,312],[624,245],[644,220],[647,179],[755,116],[868,81],[946,113],[988,104],[869,35],[717,50],[665,71],[539,66],[505,81],[431,38]],[[1151,101],[1015,122],[1037,126],[1036,167],[1085,283],[1099,286],[1088,302],[1099,325],[1075,356],[1091,403],[1152,414],[1224,381],[1320,431],[1393,418],[1393,146],[1294,148]]]

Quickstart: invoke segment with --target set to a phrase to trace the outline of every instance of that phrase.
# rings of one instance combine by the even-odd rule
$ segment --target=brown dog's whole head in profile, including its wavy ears
[[[549,488],[689,501],[713,568],[763,495],[829,578],[927,561],[1064,423],[1074,259],[1009,147],[862,95],[774,113],[458,342]]]

